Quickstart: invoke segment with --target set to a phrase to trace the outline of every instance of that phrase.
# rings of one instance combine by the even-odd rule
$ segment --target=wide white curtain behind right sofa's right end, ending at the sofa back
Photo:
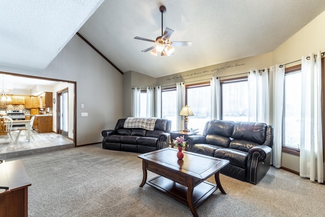
[[[248,112],[249,121],[269,125],[269,71],[268,68],[251,70],[248,75]]]

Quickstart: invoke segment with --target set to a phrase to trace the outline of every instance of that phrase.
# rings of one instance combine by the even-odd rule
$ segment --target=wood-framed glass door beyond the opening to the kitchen
[[[57,133],[68,137],[69,131],[69,109],[68,109],[68,88],[56,92],[57,99]]]

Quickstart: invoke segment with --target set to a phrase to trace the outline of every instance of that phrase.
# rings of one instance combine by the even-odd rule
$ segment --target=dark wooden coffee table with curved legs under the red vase
[[[199,216],[196,208],[213,192],[219,189],[222,194],[226,194],[219,174],[229,161],[189,151],[183,151],[183,160],[178,160],[177,151],[164,148],[140,154],[138,157],[142,159],[143,169],[140,187],[147,183],[187,205],[193,216]],[[147,181],[147,170],[158,176]],[[205,181],[212,175],[216,184]]]

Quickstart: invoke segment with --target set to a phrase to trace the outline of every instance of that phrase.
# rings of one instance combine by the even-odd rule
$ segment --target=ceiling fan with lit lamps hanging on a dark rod
[[[174,48],[173,46],[191,46],[192,42],[181,42],[181,41],[176,41],[176,42],[170,42],[169,38],[172,36],[174,33],[173,29],[170,29],[166,27],[165,32],[163,33],[163,14],[166,12],[166,7],[165,6],[160,6],[159,11],[161,12],[161,36],[158,36],[156,40],[151,40],[151,39],[145,39],[141,37],[135,37],[135,39],[143,40],[143,41],[148,41],[148,42],[154,42],[155,45],[142,50],[141,52],[147,52],[151,50],[151,53],[153,55],[157,55],[158,52],[160,52],[161,56],[170,56],[174,53]]]

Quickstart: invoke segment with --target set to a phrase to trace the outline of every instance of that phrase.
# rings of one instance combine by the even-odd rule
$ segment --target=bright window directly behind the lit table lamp
[[[187,128],[202,133],[206,122],[211,120],[210,83],[186,86],[186,104],[194,114],[188,117]]]

